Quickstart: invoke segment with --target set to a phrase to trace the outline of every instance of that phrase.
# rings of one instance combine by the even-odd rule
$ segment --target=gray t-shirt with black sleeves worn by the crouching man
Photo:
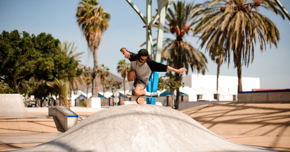
[[[137,60],[135,53],[129,53],[131,53],[129,58],[129,61],[131,62],[130,70],[134,70],[136,73],[136,78],[143,80],[146,84],[148,84],[151,72],[167,72],[166,69],[168,65],[157,63],[153,60],[148,60],[144,63],[141,63],[139,60]]]

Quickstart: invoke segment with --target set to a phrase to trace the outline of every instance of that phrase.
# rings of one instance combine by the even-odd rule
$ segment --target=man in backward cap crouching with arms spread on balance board
[[[146,49],[139,50],[137,54],[129,52],[126,48],[121,48],[120,51],[124,54],[125,58],[131,61],[127,77],[130,90],[127,95],[159,97],[158,92],[150,93],[144,90],[148,85],[151,72],[173,71],[178,74],[184,74],[182,72],[186,71],[186,68],[174,69],[168,65],[153,61]],[[133,90],[134,87],[135,89]]]

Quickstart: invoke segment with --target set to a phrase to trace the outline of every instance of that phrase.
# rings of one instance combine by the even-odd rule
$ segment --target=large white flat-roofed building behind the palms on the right
[[[216,75],[191,74],[182,77],[184,88],[180,91],[189,95],[189,101],[197,101],[197,94],[203,95],[203,99],[213,99],[216,94]],[[233,100],[233,95],[238,94],[238,77],[237,76],[219,76],[218,94],[220,100]],[[260,89],[260,78],[242,77],[243,91],[252,91]]]

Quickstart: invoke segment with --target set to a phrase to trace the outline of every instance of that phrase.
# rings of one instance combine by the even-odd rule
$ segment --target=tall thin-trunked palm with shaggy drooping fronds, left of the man
[[[94,56],[94,72],[97,73],[97,49],[101,43],[103,32],[107,30],[110,14],[104,12],[97,0],[81,0],[77,8],[77,23],[88,43],[90,53]],[[98,88],[98,79],[94,75],[95,85]],[[98,91],[96,91],[98,96]]]

